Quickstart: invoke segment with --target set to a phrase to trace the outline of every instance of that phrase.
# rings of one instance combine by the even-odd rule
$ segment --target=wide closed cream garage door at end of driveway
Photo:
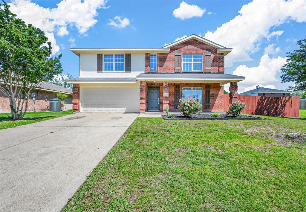
[[[139,88],[83,87],[83,112],[139,112]]]

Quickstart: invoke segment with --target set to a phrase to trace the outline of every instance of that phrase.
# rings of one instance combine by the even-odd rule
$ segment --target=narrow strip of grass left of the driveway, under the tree
[[[73,110],[67,110],[63,112],[26,112],[24,119],[20,121],[10,121],[12,118],[10,113],[0,113],[0,130],[48,119],[54,119],[72,113]]]

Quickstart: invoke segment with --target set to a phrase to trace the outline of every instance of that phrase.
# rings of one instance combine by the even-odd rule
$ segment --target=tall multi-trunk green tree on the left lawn
[[[23,119],[33,89],[62,72],[60,58],[50,58],[51,43],[44,32],[0,4],[0,91],[9,97],[13,120]]]

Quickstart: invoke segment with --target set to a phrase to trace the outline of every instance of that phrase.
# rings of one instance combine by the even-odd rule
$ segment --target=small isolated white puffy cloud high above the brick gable
[[[197,5],[190,5],[182,1],[180,6],[173,10],[173,16],[184,20],[192,17],[202,17],[205,11],[205,8],[202,9]]]

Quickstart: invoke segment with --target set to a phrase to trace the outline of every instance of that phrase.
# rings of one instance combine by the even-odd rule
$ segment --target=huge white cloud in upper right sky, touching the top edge
[[[232,20],[222,24],[214,32],[208,31],[205,38],[233,48],[226,55],[225,66],[236,61],[250,61],[250,55],[259,51],[260,42],[279,36],[282,31],[270,32],[270,28],[289,20],[306,21],[306,1],[260,1],[255,0],[238,11]]]

